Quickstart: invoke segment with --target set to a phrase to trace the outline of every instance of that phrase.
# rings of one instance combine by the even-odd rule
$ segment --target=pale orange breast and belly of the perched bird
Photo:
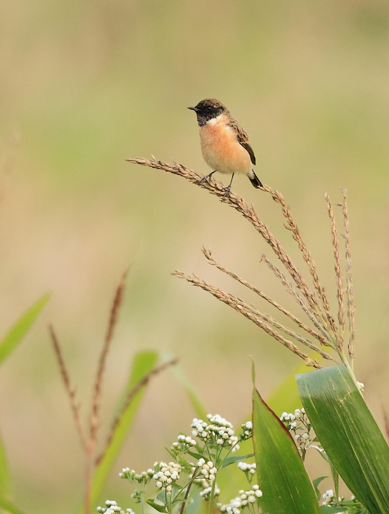
[[[200,143],[202,156],[212,170],[252,175],[249,153],[223,120],[200,127]]]

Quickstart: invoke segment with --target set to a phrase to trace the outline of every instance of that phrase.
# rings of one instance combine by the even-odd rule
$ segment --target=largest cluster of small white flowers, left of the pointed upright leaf
[[[202,419],[194,418],[191,427],[192,435],[202,441],[213,440],[219,446],[232,446],[231,452],[239,449],[238,438],[234,435],[232,424],[219,414],[208,414],[209,424]]]

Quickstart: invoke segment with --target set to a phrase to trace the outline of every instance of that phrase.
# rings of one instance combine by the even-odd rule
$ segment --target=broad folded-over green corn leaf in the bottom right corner
[[[329,460],[370,514],[389,512],[389,447],[345,366],[296,377]]]

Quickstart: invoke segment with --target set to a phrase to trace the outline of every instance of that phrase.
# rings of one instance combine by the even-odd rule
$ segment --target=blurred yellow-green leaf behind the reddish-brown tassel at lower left
[[[154,368],[157,359],[158,354],[156,352],[140,352],[135,355],[132,373],[129,376],[122,398],[124,398],[127,393],[132,390],[132,388],[137,384],[137,382],[139,382],[139,380],[141,380]],[[144,390],[145,388],[142,387],[134,395],[132,402],[124,411],[120,423],[114,432],[112,441],[107,451],[105,452],[104,457],[95,470],[90,494],[90,502],[92,507],[94,506],[94,503],[100,494],[101,488],[104,485],[110,470],[115,464],[116,458],[127,437],[128,430],[131,427],[135,414],[138,411]],[[118,409],[120,408],[122,401],[123,400],[119,402]],[[80,508],[79,512],[82,512],[82,508]]]

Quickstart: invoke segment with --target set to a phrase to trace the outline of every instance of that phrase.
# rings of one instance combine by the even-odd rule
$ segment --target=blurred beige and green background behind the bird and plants
[[[57,329],[86,421],[110,302],[130,263],[107,365],[103,429],[141,348],[179,357],[206,408],[234,424],[250,411],[248,355],[265,397],[299,364],[248,320],[170,275],[176,268],[196,272],[273,314],[207,265],[199,251],[205,245],[300,315],[258,264],[262,251],[271,254],[251,225],[183,179],[124,161],[153,153],[208,173],[196,119],[187,110],[205,97],[223,101],[246,128],[256,174],[290,202],[333,307],[324,192],[335,204],[339,188],[347,188],[356,374],[383,427],[381,403],[389,409],[389,4],[3,0],[0,27],[1,331],[52,292],[0,370],[1,431],[15,503],[31,514],[62,514],[81,500],[84,458],[46,325]],[[303,265],[279,206],[245,177],[236,177],[233,189]],[[132,491],[118,471],[139,472],[165,458],[163,446],[177,430],[188,431],[192,417],[171,373],[153,380],[101,501],[129,506]],[[312,478],[322,474],[319,464],[308,458]],[[235,494],[227,492],[226,500]]]

